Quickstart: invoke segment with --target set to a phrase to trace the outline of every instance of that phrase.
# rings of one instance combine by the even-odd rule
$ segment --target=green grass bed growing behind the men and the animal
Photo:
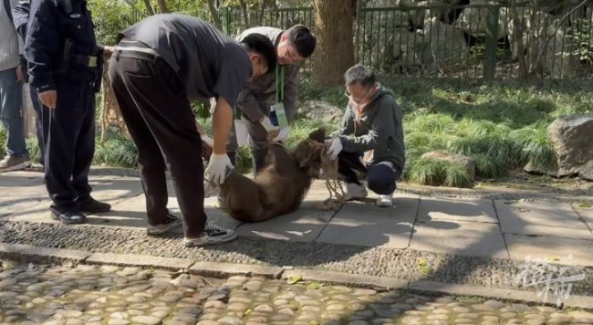
[[[556,167],[547,126],[557,117],[590,113],[593,82],[546,80],[530,85],[505,80],[484,84],[461,79],[382,79],[392,89],[404,112],[407,167],[405,179],[414,183],[472,186],[460,166],[421,159],[425,152],[442,150],[473,158],[477,180],[496,179],[532,163],[543,169]],[[343,87],[323,89],[303,79],[299,100],[325,100],[344,108]],[[194,105],[205,130],[211,125],[205,107]],[[287,146],[294,148],[310,131],[322,126],[302,114],[292,126]],[[337,125],[323,125],[328,133]],[[4,133],[0,131],[0,144]],[[4,145],[0,148],[0,154]],[[125,138],[110,133],[98,149],[95,163],[135,166],[137,152]],[[251,170],[251,152],[240,148],[237,169]]]

